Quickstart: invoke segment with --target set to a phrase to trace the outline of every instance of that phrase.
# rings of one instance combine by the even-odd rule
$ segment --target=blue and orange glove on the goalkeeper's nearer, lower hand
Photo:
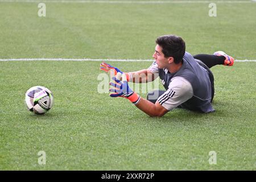
[[[117,77],[121,77],[119,74],[121,73],[118,73]],[[133,102],[133,104],[135,105],[138,104],[139,101],[141,100],[141,97],[137,93],[135,93],[133,90],[130,89],[127,83],[126,75],[124,73],[122,74],[122,81],[119,80],[117,77],[112,77],[112,80],[114,82],[109,83],[111,86],[114,87],[109,89],[110,92],[113,92],[113,93],[110,93],[109,96],[125,97],[131,102]]]

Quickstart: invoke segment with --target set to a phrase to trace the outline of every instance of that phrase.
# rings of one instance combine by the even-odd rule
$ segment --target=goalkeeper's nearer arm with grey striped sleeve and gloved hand
[[[118,73],[117,77],[122,77],[122,81],[116,77],[112,78],[114,82],[110,82],[113,86],[110,92],[113,93],[110,93],[110,97],[125,97],[151,117],[161,117],[193,96],[191,84],[182,77],[176,77],[170,83],[168,90],[153,104],[130,89],[125,74],[121,76]]]

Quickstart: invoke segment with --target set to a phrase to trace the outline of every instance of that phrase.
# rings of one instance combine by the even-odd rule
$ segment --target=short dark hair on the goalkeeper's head
[[[174,57],[174,63],[178,64],[183,61],[185,54],[185,42],[182,38],[176,35],[163,35],[155,41],[160,47],[164,57]]]

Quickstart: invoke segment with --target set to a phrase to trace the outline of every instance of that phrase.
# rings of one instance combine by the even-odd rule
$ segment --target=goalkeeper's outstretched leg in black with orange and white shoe
[[[217,51],[214,55],[200,54],[193,56],[195,59],[202,61],[208,68],[212,68],[214,65],[228,65],[234,64],[233,57],[227,55],[225,52]]]

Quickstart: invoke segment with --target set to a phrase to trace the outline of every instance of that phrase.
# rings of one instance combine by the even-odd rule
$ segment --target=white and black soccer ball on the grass
[[[27,109],[35,114],[44,114],[52,108],[52,92],[44,86],[33,86],[25,95]]]

